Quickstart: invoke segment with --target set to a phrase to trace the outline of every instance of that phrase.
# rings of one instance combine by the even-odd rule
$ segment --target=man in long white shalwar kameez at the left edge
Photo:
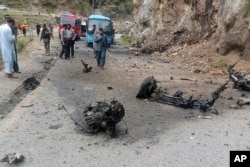
[[[14,48],[15,37],[12,33],[12,28],[14,25],[15,21],[9,18],[6,20],[6,24],[0,26],[1,51],[5,66],[6,77],[8,78],[16,78],[13,76],[13,64],[16,57]]]

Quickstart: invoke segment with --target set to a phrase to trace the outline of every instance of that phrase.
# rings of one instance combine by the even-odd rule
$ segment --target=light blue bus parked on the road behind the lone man
[[[87,46],[93,45],[93,25],[96,25],[96,29],[103,28],[104,33],[107,36],[108,45],[114,42],[114,29],[113,22],[109,17],[93,14],[90,15],[86,22],[86,44]]]

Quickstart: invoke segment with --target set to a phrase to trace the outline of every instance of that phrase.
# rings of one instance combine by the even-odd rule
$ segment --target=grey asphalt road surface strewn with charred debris
[[[101,70],[84,40],[76,42],[76,58],[71,60],[58,59],[58,45],[52,44],[53,56],[42,56],[40,47],[20,62],[23,70],[18,80],[6,80],[2,72],[1,104],[8,101],[9,94],[23,80],[44,71],[44,61],[54,58],[50,70],[41,77],[40,86],[21,99],[0,122],[0,158],[13,152],[23,154],[25,160],[19,167],[228,167],[230,150],[250,150],[248,106],[229,109],[234,101],[221,99],[216,104],[219,115],[207,113],[212,117],[210,120],[198,118],[202,113],[195,109],[135,99],[141,81],[150,75],[168,80],[161,84],[168,91],[192,87],[209,92],[210,96],[210,89],[218,85],[207,84],[204,89],[205,80],[199,76],[183,71],[176,64],[157,62],[146,55],[134,56],[122,46],[109,50],[107,64]],[[82,73],[81,59],[93,67],[92,72]],[[171,76],[174,76],[172,81]],[[199,82],[178,80],[187,76]],[[108,86],[113,90],[108,90]],[[226,93],[230,91],[240,95],[236,90]],[[126,110],[124,120],[129,133],[125,133],[126,128],[120,123],[117,138],[82,131],[56,106],[64,104],[79,119],[77,115],[87,104],[110,98],[118,99]],[[0,163],[0,166],[9,165]]]

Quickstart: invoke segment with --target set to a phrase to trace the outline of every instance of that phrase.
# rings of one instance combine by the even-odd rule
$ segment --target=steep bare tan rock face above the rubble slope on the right
[[[212,39],[221,54],[250,50],[249,17],[242,12],[246,0],[134,0],[134,5],[138,42],[164,42],[173,32],[185,30],[183,43]]]

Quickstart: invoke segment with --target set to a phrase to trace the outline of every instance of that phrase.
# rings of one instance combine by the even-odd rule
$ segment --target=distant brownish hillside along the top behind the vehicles
[[[30,3],[29,3],[30,2]],[[131,14],[133,11],[132,0],[93,0],[94,8],[110,17]],[[30,9],[49,13],[61,11],[75,12],[81,15],[88,15],[92,11],[92,0],[11,0],[5,1],[8,7],[21,10]]]

